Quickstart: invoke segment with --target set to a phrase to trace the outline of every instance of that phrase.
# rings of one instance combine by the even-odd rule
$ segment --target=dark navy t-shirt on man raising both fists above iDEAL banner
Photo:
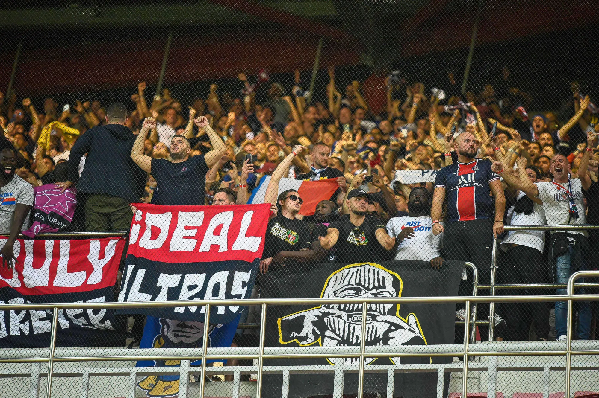
[[[203,205],[207,172],[204,155],[196,155],[181,163],[152,159],[151,174],[156,179],[152,203]]]

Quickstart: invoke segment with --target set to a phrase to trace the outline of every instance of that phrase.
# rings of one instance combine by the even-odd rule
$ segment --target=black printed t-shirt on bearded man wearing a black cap
[[[374,234],[377,229],[386,231],[386,226],[375,217],[366,216],[362,225],[353,225],[349,214],[341,216],[338,221],[331,222],[329,228],[339,231],[335,244],[337,261],[345,263],[383,261],[388,259],[389,252],[381,246]]]

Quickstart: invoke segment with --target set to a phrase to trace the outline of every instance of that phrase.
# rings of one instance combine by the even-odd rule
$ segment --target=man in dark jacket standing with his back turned
[[[71,149],[68,180],[56,185],[63,189],[77,183],[78,194],[87,196],[87,231],[127,231],[132,213],[129,203],[143,192],[146,173],[132,160],[135,135],[126,127],[127,109],[122,103],[108,107],[105,125],[87,130]],[[87,154],[81,177],[79,164]]]

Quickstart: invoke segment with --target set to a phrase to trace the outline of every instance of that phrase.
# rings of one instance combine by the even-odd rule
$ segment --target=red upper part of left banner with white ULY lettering
[[[6,238],[0,238],[0,247]],[[22,295],[88,292],[114,286],[125,238],[17,239],[13,270],[0,267],[0,288]],[[0,256],[0,261],[2,256]]]

